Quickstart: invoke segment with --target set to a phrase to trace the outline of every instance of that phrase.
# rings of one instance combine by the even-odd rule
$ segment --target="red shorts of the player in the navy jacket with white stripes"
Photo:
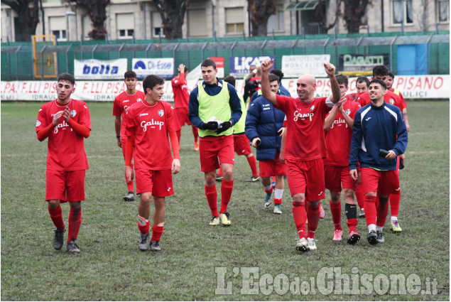
[[[399,174],[397,170],[377,171],[374,168],[362,168],[362,186],[364,193],[399,194]]]

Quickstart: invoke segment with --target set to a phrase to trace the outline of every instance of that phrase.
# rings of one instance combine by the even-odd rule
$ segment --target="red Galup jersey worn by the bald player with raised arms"
[[[308,103],[283,95],[276,95],[276,99],[276,108],[285,112],[288,123],[285,158],[298,161],[325,158],[324,119],[332,109],[326,104],[327,97],[315,97]]]

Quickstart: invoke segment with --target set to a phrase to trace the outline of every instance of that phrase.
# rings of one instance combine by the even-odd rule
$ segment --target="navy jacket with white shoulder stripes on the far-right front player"
[[[406,123],[401,110],[386,102],[380,107],[369,103],[360,108],[354,117],[349,170],[356,168],[357,159],[364,168],[396,170],[397,157],[390,161],[381,158],[379,149],[393,150],[398,156],[406,152],[407,141]]]

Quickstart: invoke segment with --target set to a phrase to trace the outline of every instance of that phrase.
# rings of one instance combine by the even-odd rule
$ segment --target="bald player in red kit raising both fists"
[[[340,92],[335,78],[335,66],[325,63],[330,78],[332,96],[314,97],[316,80],[313,75],[301,75],[297,82],[298,99],[276,95],[271,92],[268,71],[274,60],[261,63],[262,95],[287,117],[285,164],[287,166],[288,188],[293,196],[293,217],[299,240],[298,251],[317,249],[315,231],[320,219],[320,200],[325,198],[324,166],[322,158],[327,156],[324,137],[324,119],[333,105],[339,101]],[[305,201],[308,210],[305,211]],[[305,221],[308,219],[308,234]],[[307,239],[305,239],[307,237]]]

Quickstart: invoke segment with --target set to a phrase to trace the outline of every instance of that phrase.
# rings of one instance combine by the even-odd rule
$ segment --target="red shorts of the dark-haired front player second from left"
[[[170,169],[148,170],[135,168],[136,194],[151,192],[152,196],[165,197],[174,195],[173,176]]]

